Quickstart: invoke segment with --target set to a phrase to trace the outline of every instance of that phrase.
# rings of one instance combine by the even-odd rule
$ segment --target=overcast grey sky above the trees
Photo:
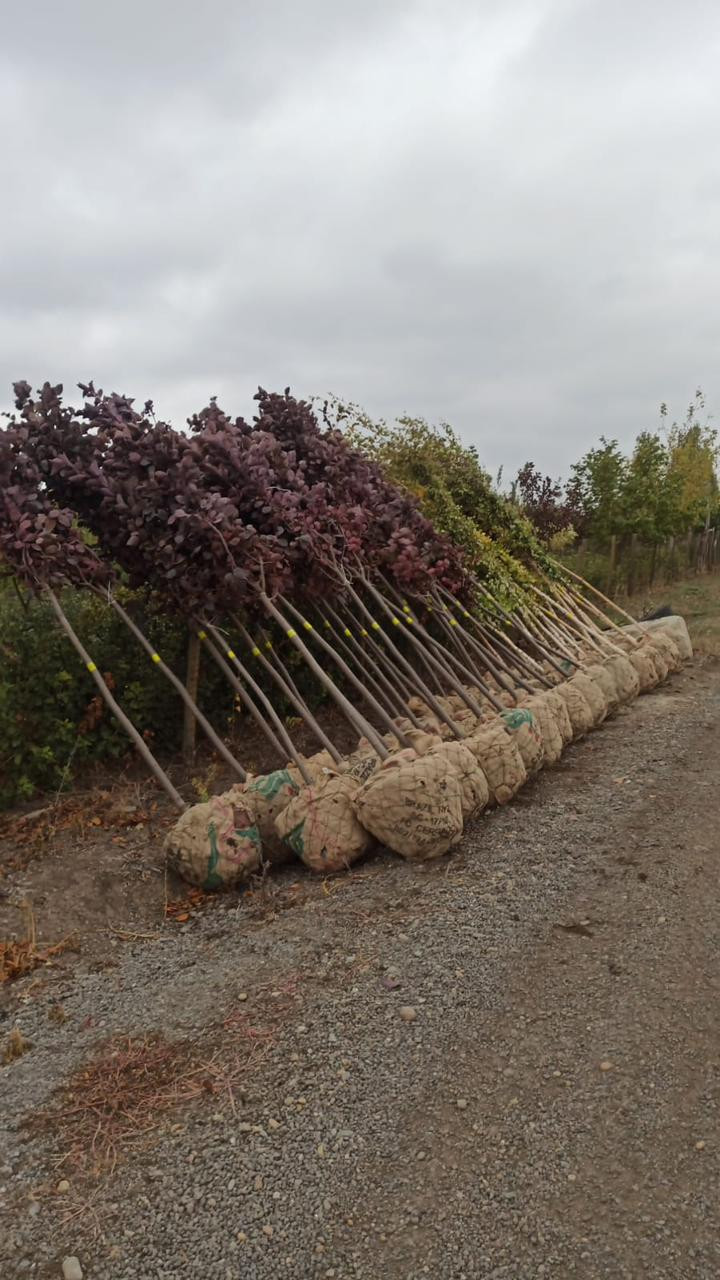
[[[717,0],[5,0],[0,372],[566,472],[720,412]]]

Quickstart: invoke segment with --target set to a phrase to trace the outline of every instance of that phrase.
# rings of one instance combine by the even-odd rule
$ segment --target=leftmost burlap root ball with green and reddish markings
[[[164,849],[170,870],[200,888],[249,879],[263,861],[263,842],[243,788],[233,787],[187,809],[168,832]]]

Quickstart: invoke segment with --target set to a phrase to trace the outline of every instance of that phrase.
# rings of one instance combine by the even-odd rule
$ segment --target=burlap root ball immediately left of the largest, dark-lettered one
[[[302,787],[275,819],[275,829],[314,872],[338,872],[357,861],[372,840],[355,817],[360,783],[346,773]]]

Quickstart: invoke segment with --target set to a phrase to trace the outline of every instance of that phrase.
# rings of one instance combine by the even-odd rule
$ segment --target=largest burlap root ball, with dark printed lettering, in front
[[[383,763],[355,794],[365,831],[410,861],[442,858],[462,835],[462,785],[447,746]]]

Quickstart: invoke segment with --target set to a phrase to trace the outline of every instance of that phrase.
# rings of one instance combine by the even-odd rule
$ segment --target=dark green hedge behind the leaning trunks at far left
[[[182,675],[184,625],[152,614],[137,596],[128,594],[124,603],[168,666]],[[160,754],[177,750],[182,701],[124,623],[87,593],[65,591],[63,607],[152,749]],[[204,672],[202,703],[211,704],[217,724],[227,724],[232,691],[210,669]],[[0,808],[63,787],[88,760],[109,762],[129,750],[50,607],[41,599],[26,604],[5,585],[0,593]]]

